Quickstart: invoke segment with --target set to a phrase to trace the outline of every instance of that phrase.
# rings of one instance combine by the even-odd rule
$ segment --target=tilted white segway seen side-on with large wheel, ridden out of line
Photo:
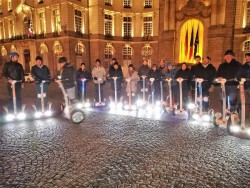
[[[65,118],[71,120],[75,124],[81,123],[85,119],[85,114],[82,109],[77,108],[76,105],[73,105],[69,101],[68,94],[63,87],[61,80],[56,80],[59,85],[59,88],[62,90],[64,97],[64,105],[62,106],[62,112]]]

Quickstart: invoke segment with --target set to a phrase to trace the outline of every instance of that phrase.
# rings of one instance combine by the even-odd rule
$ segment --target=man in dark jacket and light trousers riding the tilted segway
[[[61,67],[60,79],[62,81],[63,87],[66,90],[70,101],[75,102],[75,69],[71,64],[67,63],[66,57],[60,57],[58,59],[58,63]]]

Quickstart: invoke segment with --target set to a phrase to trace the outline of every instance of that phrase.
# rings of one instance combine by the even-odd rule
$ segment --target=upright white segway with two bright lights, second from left
[[[52,107],[52,103],[48,103],[47,104],[47,108],[45,110],[45,102],[44,102],[44,98],[46,97],[46,93],[43,92],[44,90],[44,83],[48,83],[49,81],[47,80],[42,80],[40,83],[40,88],[41,88],[41,93],[37,94],[37,97],[40,98],[40,102],[41,102],[41,106],[40,106],[40,110],[37,109],[36,105],[32,105],[32,107],[35,110],[35,114],[34,117],[35,118],[42,118],[42,117],[50,117],[52,115],[52,111],[51,111],[51,107]]]

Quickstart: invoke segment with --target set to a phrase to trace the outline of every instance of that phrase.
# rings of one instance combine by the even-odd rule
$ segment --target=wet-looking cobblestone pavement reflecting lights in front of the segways
[[[88,112],[0,126],[0,187],[250,187],[250,141],[224,128]]]

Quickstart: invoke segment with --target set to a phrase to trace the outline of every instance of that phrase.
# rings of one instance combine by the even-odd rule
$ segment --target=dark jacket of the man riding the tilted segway
[[[61,70],[63,87],[69,89],[75,86],[75,69],[73,65],[66,63]]]

